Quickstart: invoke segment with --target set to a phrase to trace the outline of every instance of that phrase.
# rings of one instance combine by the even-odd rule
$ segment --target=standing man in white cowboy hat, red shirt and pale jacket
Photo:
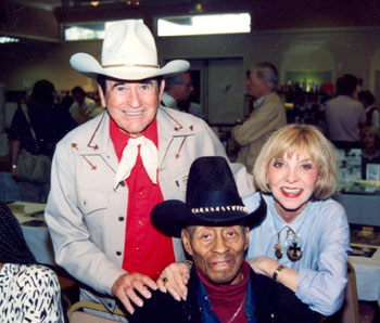
[[[151,296],[147,287],[156,288],[161,271],[183,259],[180,240],[156,231],[150,211],[164,199],[185,199],[195,158],[227,157],[203,120],[159,106],[161,77],[182,73],[189,63],[161,68],[144,24],[113,25],[101,61],[85,53],[71,59],[74,69],[98,79],[105,112],[58,144],[46,220],[56,263],[86,286],[80,298],[103,303],[110,313],[118,299],[132,313]],[[252,193],[245,168],[231,168],[239,193]]]

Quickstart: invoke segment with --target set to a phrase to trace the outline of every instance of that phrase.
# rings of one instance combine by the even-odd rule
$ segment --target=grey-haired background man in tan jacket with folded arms
[[[252,66],[246,79],[249,94],[254,96],[254,109],[248,120],[236,126],[232,139],[241,146],[238,163],[252,172],[253,165],[268,137],[287,125],[286,108],[277,94],[277,68],[267,62]]]

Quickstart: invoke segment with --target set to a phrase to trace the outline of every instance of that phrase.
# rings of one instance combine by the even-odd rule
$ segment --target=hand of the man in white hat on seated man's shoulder
[[[112,294],[115,295],[124,305],[129,313],[134,313],[134,303],[138,307],[143,306],[143,301],[137,296],[138,290],[143,297],[151,298],[152,293],[149,288],[157,289],[155,282],[143,274],[138,272],[125,273],[121,275],[112,286]]]

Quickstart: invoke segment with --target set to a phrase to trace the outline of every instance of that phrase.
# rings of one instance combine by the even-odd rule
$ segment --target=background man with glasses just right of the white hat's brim
[[[161,104],[202,118],[202,107],[194,102],[190,102],[190,95],[193,91],[194,87],[189,72],[167,77],[165,78],[165,92]]]

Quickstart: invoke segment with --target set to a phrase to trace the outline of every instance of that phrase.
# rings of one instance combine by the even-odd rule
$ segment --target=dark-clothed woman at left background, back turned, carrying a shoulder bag
[[[35,82],[26,103],[18,102],[9,131],[12,178],[18,182],[22,199],[47,203],[50,190],[50,163],[43,167],[45,178],[38,182],[20,178],[17,160],[23,150],[51,159],[55,144],[76,125],[68,111],[55,103],[55,88],[41,79]],[[49,162],[49,159],[48,159]]]

